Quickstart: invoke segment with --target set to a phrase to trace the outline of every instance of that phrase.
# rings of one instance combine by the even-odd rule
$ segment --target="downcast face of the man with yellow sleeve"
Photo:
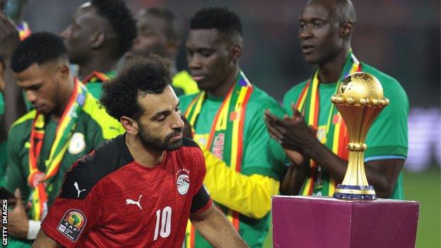
[[[208,94],[225,96],[240,72],[242,38],[216,29],[190,30],[187,61],[192,78]]]

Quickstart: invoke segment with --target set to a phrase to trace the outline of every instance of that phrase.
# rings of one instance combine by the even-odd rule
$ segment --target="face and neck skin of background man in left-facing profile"
[[[93,71],[117,68],[121,54],[117,53],[117,37],[110,23],[98,15],[95,6],[81,5],[72,16],[72,23],[62,33],[69,60],[79,66],[79,76]]]

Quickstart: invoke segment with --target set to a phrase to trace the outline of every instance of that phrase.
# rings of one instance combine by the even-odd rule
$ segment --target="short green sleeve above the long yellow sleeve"
[[[278,117],[285,114],[276,101],[247,106],[242,173],[265,175],[280,180],[285,170],[285,152],[280,144],[269,136],[264,122],[266,109]]]

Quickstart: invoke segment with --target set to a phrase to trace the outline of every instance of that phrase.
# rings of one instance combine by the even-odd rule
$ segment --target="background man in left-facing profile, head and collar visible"
[[[99,99],[102,83],[131,49],[136,23],[123,0],[92,0],[78,7],[61,36],[78,78]]]

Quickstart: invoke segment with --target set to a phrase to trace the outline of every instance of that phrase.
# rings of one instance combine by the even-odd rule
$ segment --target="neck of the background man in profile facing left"
[[[93,71],[107,73],[117,68],[118,61],[119,59],[110,57],[92,57],[89,61],[78,64],[78,76],[80,76],[80,78],[86,78]]]

